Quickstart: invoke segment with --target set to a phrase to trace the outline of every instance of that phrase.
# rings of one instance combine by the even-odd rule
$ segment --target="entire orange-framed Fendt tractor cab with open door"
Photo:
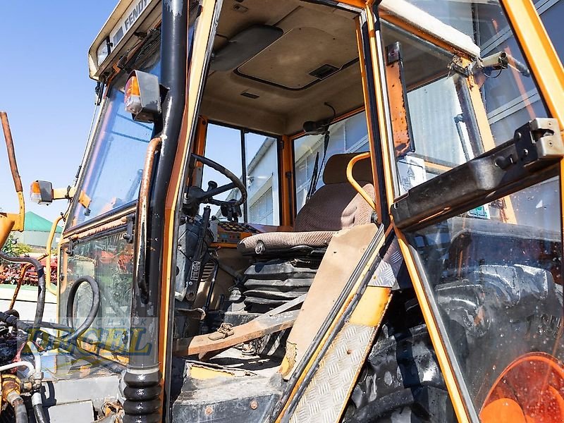
[[[564,78],[529,6],[120,1],[47,412],[560,421]]]

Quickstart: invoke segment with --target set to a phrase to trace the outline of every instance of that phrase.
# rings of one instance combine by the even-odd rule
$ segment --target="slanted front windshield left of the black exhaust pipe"
[[[159,59],[159,49],[155,49],[149,59],[136,68],[159,75]],[[86,196],[90,204],[75,202],[68,227],[121,209],[137,200],[153,125],[135,122],[125,111],[123,87],[127,76],[123,73],[109,88],[80,187],[81,197]]]

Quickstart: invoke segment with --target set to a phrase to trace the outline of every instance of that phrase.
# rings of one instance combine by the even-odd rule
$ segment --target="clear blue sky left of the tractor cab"
[[[28,211],[49,220],[67,207],[30,202],[32,180],[73,183],[94,111],[87,52],[117,0],[0,3],[0,110],[8,112]],[[0,209],[17,200],[0,131]]]

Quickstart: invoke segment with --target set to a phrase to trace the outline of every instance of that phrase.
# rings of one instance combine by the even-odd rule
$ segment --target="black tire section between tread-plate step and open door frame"
[[[427,326],[381,326],[343,421],[456,422]]]

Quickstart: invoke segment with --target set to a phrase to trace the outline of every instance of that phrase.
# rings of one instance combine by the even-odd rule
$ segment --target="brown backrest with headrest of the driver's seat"
[[[294,231],[341,231],[370,223],[372,207],[347,180],[347,165],[358,153],[334,154],[324,168],[323,181],[295,218]],[[372,166],[369,159],[358,161],[353,168],[355,180],[374,198]]]

